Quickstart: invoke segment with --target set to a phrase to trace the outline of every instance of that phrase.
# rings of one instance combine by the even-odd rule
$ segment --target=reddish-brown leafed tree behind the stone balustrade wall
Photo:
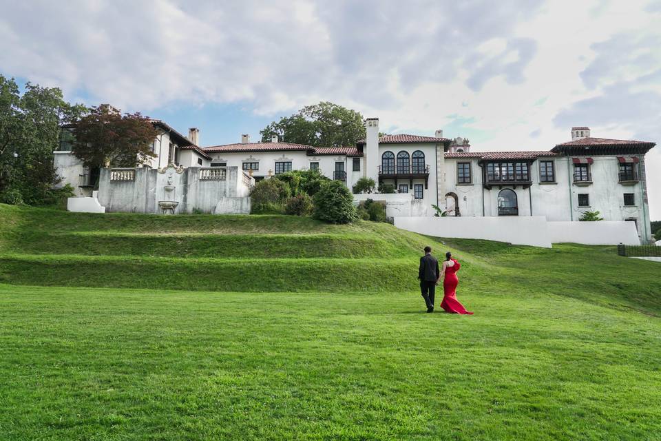
[[[87,167],[135,167],[156,154],[156,129],[149,117],[122,114],[111,105],[92,107],[73,125],[72,152]]]

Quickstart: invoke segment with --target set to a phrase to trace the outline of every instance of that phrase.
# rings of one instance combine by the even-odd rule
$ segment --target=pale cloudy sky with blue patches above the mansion
[[[0,0],[0,74],[202,145],[333,101],[382,130],[547,150],[571,125],[661,141],[661,1]],[[661,220],[661,145],[647,155]]]

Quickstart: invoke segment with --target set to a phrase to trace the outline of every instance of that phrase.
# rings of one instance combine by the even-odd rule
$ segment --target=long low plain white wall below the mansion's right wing
[[[544,216],[395,217],[395,227],[434,237],[485,239],[514,245],[552,243],[640,245],[633,222],[547,222]]]

